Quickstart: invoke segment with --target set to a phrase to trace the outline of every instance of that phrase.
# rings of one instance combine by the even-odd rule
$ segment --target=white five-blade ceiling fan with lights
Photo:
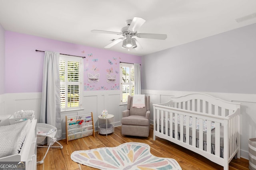
[[[102,31],[102,30],[92,30],[93,33],[108,33],[115,35],[122,35],[123,37],[115,39],[110,44],[106,45],[104,48],[110,48],[114,45],[120,43],[122,41],[123,48],[133,48],[140,47],[138,41],[133,38],[134,36],[139,38],[149,38],[149,39],[166,39],[166,34],[152,34],[152,33],[137,33],[137,30],[144,24],[146,20],[140,17],[134,17],[133,20],[126,20],[126,27],[121,29],[121,32],[113,32],[113,31]]]

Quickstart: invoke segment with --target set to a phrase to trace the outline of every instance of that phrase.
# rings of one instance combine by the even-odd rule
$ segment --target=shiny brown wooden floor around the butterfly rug
[[[174,158],[178,161],[183,170],[222,170],[223,167],[211,162],[210,160],[196,154],[190,150],[184,149],[165,139],[156,138],[153,140],[153,126],[150,127],[150,135],[144,137],[122,136],[121,126],[115,127],[114,133],[106,135],[89,136],[81,139],[69,141],[66,139],[59,141],[63,149],[51,148],[44,159],[43,164],[37,165],[37,170],[95,170],[73,162],[70,154],[75,150],[87,150],[100,147],[117,147],[126,142],[141,142],[150,146],[150,151],[154,156]],[[54,144],[56,145],[56,144]],[[46,148],[37,149],[37,161],[41,160],[46,152]],[[230,170],[248,170],[248,160],[244,158],[233,159],[229,164]]]

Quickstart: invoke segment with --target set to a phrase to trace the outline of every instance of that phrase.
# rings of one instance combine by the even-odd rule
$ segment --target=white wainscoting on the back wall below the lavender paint
[[[66,138],[66,115],[82,115],[93,112],[94,127],[98,131],[98,115],[107,109],[113,114],[114,125],[120,126],[122,106],[120,104],[120,90],[84,91],[82,108],[75,111],[61,112],[62,137]],[[34,110],[35,118],[39,119],[41,109],[41,93],[11,93],[0,95],[0,115],[12,115],[19,110]]]

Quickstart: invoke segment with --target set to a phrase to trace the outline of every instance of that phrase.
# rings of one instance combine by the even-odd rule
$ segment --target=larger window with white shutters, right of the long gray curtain
[[[60,55],[60,109],[81,109],[82,66],[80,57]]]

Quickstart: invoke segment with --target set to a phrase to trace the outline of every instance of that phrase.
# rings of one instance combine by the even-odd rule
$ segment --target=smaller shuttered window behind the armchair
[[[126,104],[128,95],[134,96],[134,64],[120,63],[121,103]]]

